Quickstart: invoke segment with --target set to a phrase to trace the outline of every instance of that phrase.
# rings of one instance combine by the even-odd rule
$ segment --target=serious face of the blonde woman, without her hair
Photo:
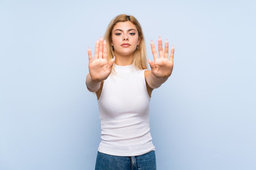
[[[112,30],[112,45],[116,55],[133,55],[139,45],[139,33],[130,21],[117,23]]]

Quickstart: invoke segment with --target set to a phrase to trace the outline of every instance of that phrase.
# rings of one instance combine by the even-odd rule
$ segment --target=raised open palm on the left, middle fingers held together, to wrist
[[[107,42],[103,41],[102,38],[97,40],[95,46],[95,57],[92,59],[92,51],[88,49],[89,56],[89,72],[92,81],[99,83],[102,80],[107,79],[112,70],[112,65],[114,63],[114,58],[107,60]]]

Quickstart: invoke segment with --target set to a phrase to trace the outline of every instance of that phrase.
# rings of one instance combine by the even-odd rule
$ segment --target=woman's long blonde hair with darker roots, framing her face
[[[114,50],[112,49],[112,30],[114,26],[119,22],[129,21],[136,26],[137,31],[139,33],[139,45],[137,50],[134,51],[134,57],[132,60],[132,64],[138,69],[147,69],[147,62],[146,62],[146,45],[144,40],[144,35],[142,33],[142,26],[140,26],[139,22],[134,16],[127,16],[126,14],[121,14],[116,16],[110,22],[109,26],[107,26],[107,30],[104,36],[104,39],[107,41],[107,55],[108,60],[110,61],[114,57]]]

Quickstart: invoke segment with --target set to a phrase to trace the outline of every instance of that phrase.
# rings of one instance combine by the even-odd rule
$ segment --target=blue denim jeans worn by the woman
[[[134,157],[97,152],[95,170],[156,170],[156,155],[154,151]]]

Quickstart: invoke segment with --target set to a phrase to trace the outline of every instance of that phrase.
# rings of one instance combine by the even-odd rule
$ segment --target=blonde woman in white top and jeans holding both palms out
[[[148,60],[142,27],[134,16],[116,16],[104,40],[97,40],[95,56],[89,48],[87,89],[96,92],[101,138],[95,169],[156,169],[155,147],[149,132],[149,101],[153,89],[171,76],[174,47],[158,50],[151,41],[154,62]]]

